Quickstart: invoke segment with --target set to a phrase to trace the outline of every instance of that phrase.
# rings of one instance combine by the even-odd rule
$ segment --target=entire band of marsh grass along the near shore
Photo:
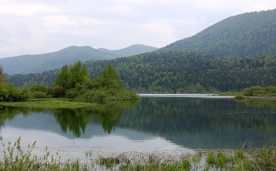
[[[34,142],[23,150],[20,137],[13,144],[3,143],[0,170],[276,170],[276,146],[252,150],[198,151],[173,157],[166,152],[122,153],[117,157],[99,157],[81,163],[77,159],[62,161],[58,153],[43,157],[32,154]],[[86,152],[90,157],[90,152]]]

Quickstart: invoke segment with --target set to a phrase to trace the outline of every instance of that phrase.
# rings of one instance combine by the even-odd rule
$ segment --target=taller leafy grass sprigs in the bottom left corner
[[[3,159],[0,160],[0,170],[92,170],[88,163],[80,163],[79,160],[61,161],[59,154],[51,155],[48,148],[42,157],[32,154],[36,141],[28,145],[26,150],[21,147],[21,138],[14,143],[3,143]]]

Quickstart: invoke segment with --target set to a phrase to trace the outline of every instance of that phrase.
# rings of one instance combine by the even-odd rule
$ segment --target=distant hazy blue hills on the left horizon
[[[22,55],[0,59],[4,72],[8,74],[39,73],[64,64],[72,65],[75,61],[88,61],[98,59],[115,59],[144,52],[151,52],[157,48],[144,45],[133,45],[121,50],[95,49],[90,46],[70,46],[57,52],[46,54]]]

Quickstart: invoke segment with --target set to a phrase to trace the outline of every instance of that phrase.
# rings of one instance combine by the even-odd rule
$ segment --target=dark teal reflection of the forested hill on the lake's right
[[[149,132],[188,148],[260,146],[276,137],[275,101],[237,103],[233,99],[144,98],[121,117],[119,126]]]

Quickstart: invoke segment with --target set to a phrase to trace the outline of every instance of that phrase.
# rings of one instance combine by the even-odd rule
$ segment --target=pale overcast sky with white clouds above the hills
[[[275,0],[0,0],[0,58],[68,46],[161,48]]]

